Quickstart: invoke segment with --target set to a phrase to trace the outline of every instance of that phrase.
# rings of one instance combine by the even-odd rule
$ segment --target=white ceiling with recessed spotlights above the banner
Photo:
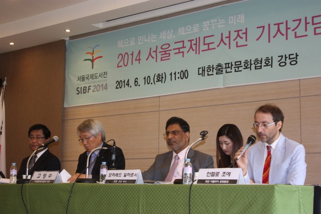
[[[97,23],[158,8],[170,13],[174,7],[179,11],[217,1],[222,0],[1,0],[0,53],[68,40],[71,36],[107,28]],[[153,11],[150,18],[153,14],[157,16]],[[65,32],[66,29],[71,32]],[[10,42],[15,44],[9,45]]]

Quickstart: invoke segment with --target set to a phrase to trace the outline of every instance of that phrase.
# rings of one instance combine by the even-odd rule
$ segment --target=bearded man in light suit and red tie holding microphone
[[[256,110],[254,118],[253,126],[260,141],[249,147],[237,162],[245,182],[303,185],[307,171],[305,149],[281,133],[284,119],[281,109],[271,104],[263,105]],[[235,158],[242,150],[243,147]]]

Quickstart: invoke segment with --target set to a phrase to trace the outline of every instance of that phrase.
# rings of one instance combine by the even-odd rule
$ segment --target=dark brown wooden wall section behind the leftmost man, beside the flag
[[[64,40],[1,54],[0,77],[7,77],[5,88],[6,171],[12,162],[21,167],[32,151],[28,129],[44,124],[51,136],[60,140],[50,151],[60,158],[62,110],[65,78]]]

